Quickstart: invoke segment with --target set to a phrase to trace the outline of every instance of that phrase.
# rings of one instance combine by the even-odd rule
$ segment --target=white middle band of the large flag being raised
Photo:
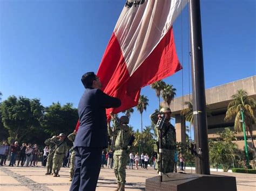
[[[145,0],[137,6],[124,6],[114,34],[130,76],[169,31],[186,3],[187,0]]]

